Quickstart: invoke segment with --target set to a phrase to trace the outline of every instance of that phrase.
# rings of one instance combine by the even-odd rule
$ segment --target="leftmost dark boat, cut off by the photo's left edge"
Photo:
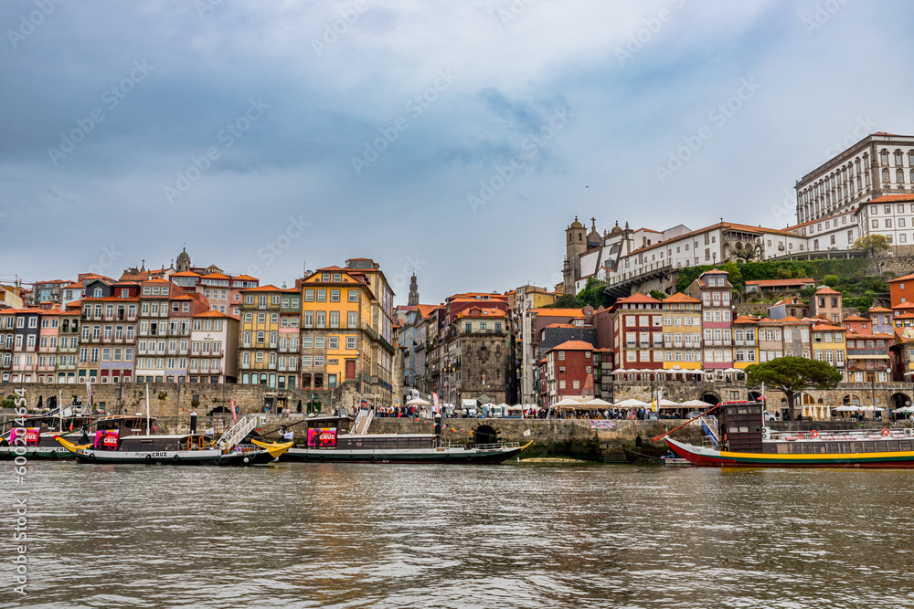
[[[113,433],[118,436],[145,434],[144,416],[37,415],[27,417],[25,425],[14,426],[0,437],[0,460],[21,454],[29,459],[74,459],[67,448],[55,439],[61,436],[71,442],[88,444],[91,436]],[[19,435],[25,435],[25,443]],[[18,451],[16,446],[20,446]],[[22,450],[25,450],[25,453]]]

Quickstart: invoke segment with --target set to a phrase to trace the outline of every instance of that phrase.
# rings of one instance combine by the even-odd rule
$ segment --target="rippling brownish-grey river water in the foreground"
[[[0,607],[914,607],[911,471],[27,467]]]

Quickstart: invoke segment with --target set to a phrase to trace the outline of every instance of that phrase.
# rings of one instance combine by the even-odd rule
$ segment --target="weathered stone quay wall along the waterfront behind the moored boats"
[[[692,399],[696,394],[713,392],[721,399],[734,399],[728,392],[739,392],[741,399],[746,399],[744,385],[727,383],[664,383],[667,391],[665,397],[682,401]],[[907,385],[908,388],[910,384]],[[86,387],[81,384],[58,385],[30,383],[25,385],[0,383],[0,395],[13,394],[16,388],[26,389],[27,406],[35,409],[38,396],[43,404],[48,404],[48,397],[61,392],[64,404],[70,404],[72,395],[79,395],[83,403],[87,403]],[[103,404],[108,414],[137,414],[145,413],[145,384],[124,383],[122,385],[92,385],[93,403],[96,406]],[[649,395],[650,385],[646,383],[615,383],[616,399],[627,397],[643,397]],[[121,390],[121,396],[115,390]],[[893,393],[904,389],[901,383],[877,383],[867,386],[876,396],[882,396],[887,402]],[[834,396],[847,394],[848,388],[831,390]],[[857,390],[859,392],[859,390]],[[870,392],[866,392],[870,394]],[[829,402],[834,396],[827,392],[810,392],[813,395],[824,394]],[[909,391],[910,393],[910,391]],[[869,396],[871,396],[870,394]],[[283,416],[264,413],[264,404],[268,400],[284,397],[294,404],[300,399],[298,392],[292,391],[267,391],[259,385],[237,384],[197,384],[197,383],[150,383],[149,384],[149,409],[155,417],[159,433],[186,433],[190,426],[190,413],[197,412],[197,432],[203,432],[212,427],[218,436],[228,429],[234,419],[229,414],[219,413],[221,408],[228,409],[230,401],[234,399],[239,406],[241,415],[256,414],[262,417],[260,433],[274,433],[281,426],[288,426],[291,430],[302,429],[303,425],[294,425],[303,421],[304,414],[295,412],[292,406],[292,415]],[[195,400],[196,398],[196,400]],[[837,403],[840,404],[840,398]],[[194,402],[197,405],[194,405]],[[274,402],[275,404],[275,402]],[[885,404],[885,403],[884,403]],[[214,413],[213,411],[217,412]],[[327,409],[324,409],[325,411]],[[5,418],[12,418],[12,411],[5,411]],[[663,434],[667,429],[684,423],[672,419],[661,421],[629,421],[611,420],[610,429],[594,428],[590,421],[579,419],[445,419],[443,425],[443,440],[451,444],[471,444],[473,432],[479,425],[489,425],[503,442],[518,442],[526,444],[533,441],[533,446],[525,453],[525,457],[574,457],[581,459],[622,460],[624,453],[622,446],[637,449],[640,445],[650,445],[650,439]],[[813,429],[854,429],[861,426],[866,428],[879,428],[885,425],[879,421],[850,422],[845,419],[834,421],[787,421],[772,422],[773,429],[781,431],[811,431]],[[901,425],[901,424],[895,424]],[[910,425],[910,422],[905,422]],[[452,431],[453,429],[453,431]],[[373,420],[369,433],[375,434],[409,434],[432,433],[434,424],[429,419],[412,418],[387,418],[377,417]],[[525,435],[526,434],[526,435]],[[299,439],[301,434],[296,434]],[[689,425],[675,434],[676,438],[700,444],[702,433],[697,425]],[[655,446],[658,447],[658,446]]]

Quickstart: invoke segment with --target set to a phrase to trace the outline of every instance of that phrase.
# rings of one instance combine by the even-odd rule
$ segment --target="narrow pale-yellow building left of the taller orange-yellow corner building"
[[[241,290],[239,381],[242,384],[262,384],[271,389],[279,385],[277,368],[282,295],[283,290],[276,286]]]

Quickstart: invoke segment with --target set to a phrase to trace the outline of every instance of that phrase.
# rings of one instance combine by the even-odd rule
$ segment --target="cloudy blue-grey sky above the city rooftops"
[[[914,134],[914,12],[861,0],[5,0],[0,281],[371,257],[405,303],[560,281],[577,215],[795,222]]]

